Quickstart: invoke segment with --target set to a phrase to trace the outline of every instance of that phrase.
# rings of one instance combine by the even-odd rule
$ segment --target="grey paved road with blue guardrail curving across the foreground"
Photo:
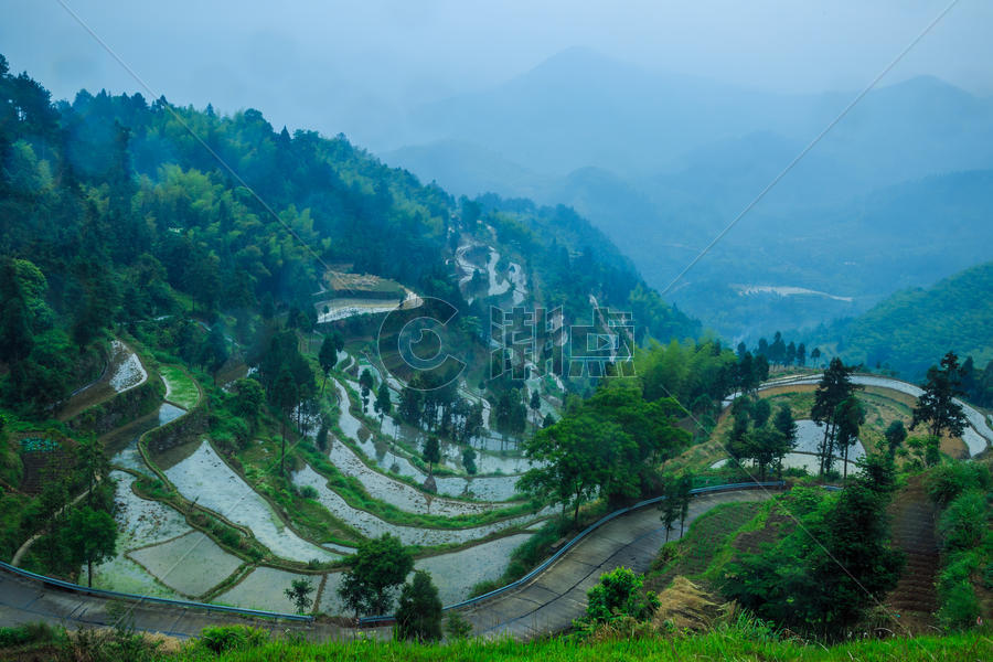
[[[686,524],[720,503],[757,501],[762,490],[737,490],[694,498]],[[670,540],[679,537],[679,531]],[[463,610],[477,634],[510,634],[527,639],[567,628],[586,610],[586,591],[602,573],[624,565],[643,573],[665,535],[655,508],[620,516],[591,533],[527,586],[502,594]],[[0,573],[0,626],[29,621],[64,624],[66,628],[100,627],[110,622],[108,600],[66,591],[9,572]],[[250,622],[270,631],[293,629],[312,639],[349,638],[354,631],[331,623],[300,623],[252,619],[193,608],[139,602],[131,611],[136,630],[171,637],[195,637],[207,626]],[[384,634],[388,629],[384,629]],[[388,634],[386,634],[388,636]]]

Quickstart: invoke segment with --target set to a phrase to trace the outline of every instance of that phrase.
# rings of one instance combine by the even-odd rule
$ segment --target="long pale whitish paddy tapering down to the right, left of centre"
[[[170,451],[170,455],[174,452]],[[248,487],[205,440],[164,472],[183,496],[250,528],[258,542],[281,558],[323,562],[353,552],[344,547],[330,552],[293,533],[269,503]]]

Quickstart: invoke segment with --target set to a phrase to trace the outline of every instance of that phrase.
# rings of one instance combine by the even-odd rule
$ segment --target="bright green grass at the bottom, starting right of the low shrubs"
[[[577,642],[570,638],[522,643],[506,640],[469,640],[449,644],[353,641],[321,644],[270,641],[257,648],[227,651],[220,656],[196,645],[182,649],[175,660],[224,660],[229,662],[280,660],[362,660],[436,662],[535,660],[540,662],[672,661],[684,660],[991,660],[993,640],[981,633],[921,637],[917,639],[865,640],[830,648],[783,641],[749,641],[735,632],[709,632],[685,638],[618,639]]]

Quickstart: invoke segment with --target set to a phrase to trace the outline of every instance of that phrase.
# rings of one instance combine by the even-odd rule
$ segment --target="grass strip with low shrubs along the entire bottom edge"
[[[29,623],[0,629],[2,659],[67,660],[174,660],[177,662],[263,662],[269,660],[321,660],[366,662],[487,661],[587,662],[627,661],[682,662],[684,660],[738,660],[835,662],[951,662],[989,660],[993,641],[986,632],[964,632],[915,639],[856,639],[825,647],[816,642],[787,639],[777,632],[720,626],[705,633],[662,637],[626,632],[601,634],[589,641],[554,637],[520,642],[511,639],[459,640],[451,643],[406,643],[357,639],[353,641],[307,642],[302,638],[273,638],[261,629],[215,627],[197,640],[156,643],[127,630],[84,630],[70,634],[61,628]]]

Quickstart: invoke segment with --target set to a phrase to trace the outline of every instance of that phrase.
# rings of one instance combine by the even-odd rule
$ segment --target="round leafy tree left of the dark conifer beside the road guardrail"
[[[388,533],[365,541],[349,557],[339,595],[345,606],[360,613],[387,613],[393,591],[414,569],[414,557],[399,538]]]

